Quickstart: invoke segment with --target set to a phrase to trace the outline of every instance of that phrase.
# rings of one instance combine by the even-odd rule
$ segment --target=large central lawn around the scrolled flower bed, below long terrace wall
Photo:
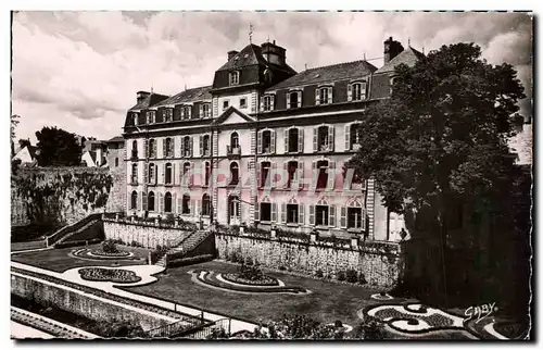
[[[276,321],[283,314],[305,314],[325,323],[341,320],[352,326],[359,323],[356,312],[376,300],[370,295],[377,292],[355,285],[334,284],[288,274],[267,272],[287,286],[299,286],[312,290],[310,295],[288,293],[237,293],[216,290],[198,285],[191,280],[189,270],[213,270],[215,272],[236,272],[237,266],[212,261],[198,265],[168,268],[166,276],[140,287],[126,287],[126,290],[155,298],[176,301],[206,311],[257,323]]]

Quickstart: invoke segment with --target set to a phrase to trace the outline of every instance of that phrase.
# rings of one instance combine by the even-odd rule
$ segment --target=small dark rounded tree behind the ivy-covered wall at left
[[[36,132],[37,154],[39,166],[70,166],[79,165],[81,147],[77,143],[74,134],[56,127],[43,127]]]

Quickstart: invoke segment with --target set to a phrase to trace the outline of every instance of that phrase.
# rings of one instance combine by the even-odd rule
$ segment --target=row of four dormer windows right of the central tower
[[[348,84],[346,100],[362,101],[366,99],[366,82],[356,82]],[[301,108],[303,104],[303,90],[295,89],[286,92],[287,109]],[[333,87],[323,86],[315,89],[315,104],[331,104],[333,103]],[[261,100],[261,111],[268,112],[275,110],[275,93],[266,93]]]

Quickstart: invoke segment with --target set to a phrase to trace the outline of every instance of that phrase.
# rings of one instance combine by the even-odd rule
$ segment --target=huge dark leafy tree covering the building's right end
[[[468,197],[493,205],[508,184],[507,140],[521,98],[512,65],[488,64],[478,46],[456,43],[397,66],[391,98],[367,109],[346,166],[376,178],[391,211],[427,220],[412,237],[439,238],[443,270],[453,209]]]

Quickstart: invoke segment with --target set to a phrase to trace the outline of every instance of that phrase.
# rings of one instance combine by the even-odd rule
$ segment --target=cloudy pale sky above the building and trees
[[[531,109],[531,17],[514,13],[18,12],[13,18],[17,138],[49,125],[109,139],[122,133],[136,91],[174,95],[213,83],[227,51],[276,40],[296,71],[359,60],[382,65],[389,36],[428,52],[473,41],[493,64],[513,64]]]

